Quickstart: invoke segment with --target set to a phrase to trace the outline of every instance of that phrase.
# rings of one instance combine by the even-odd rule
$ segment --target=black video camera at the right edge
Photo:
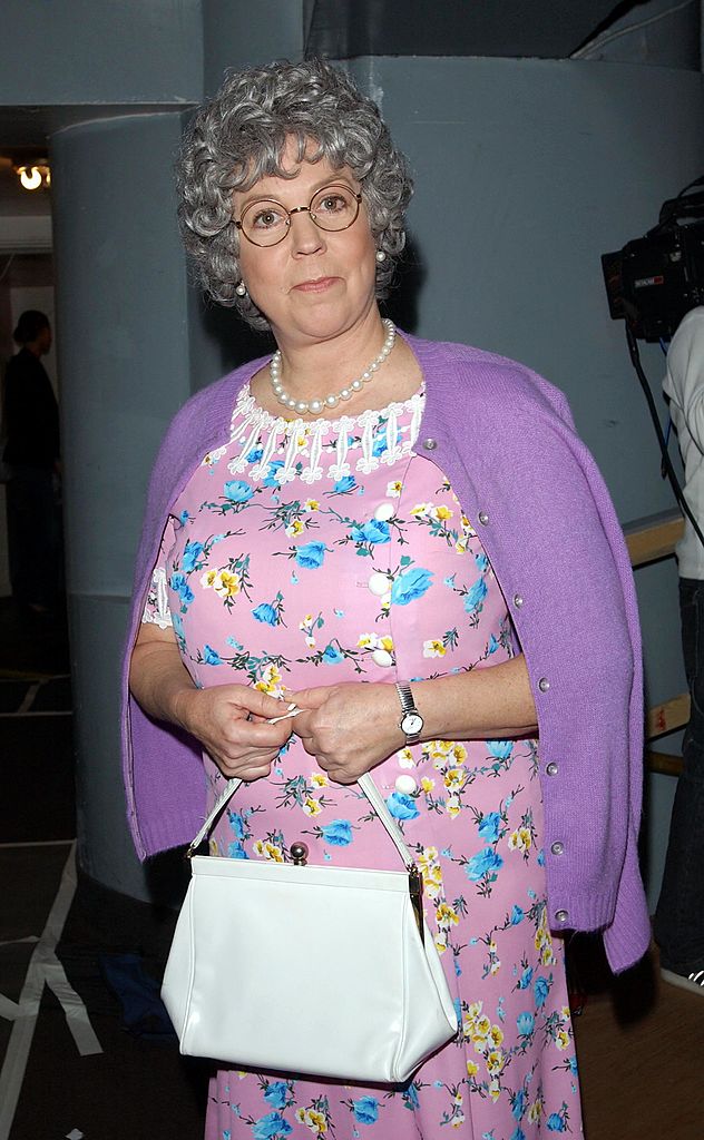
[[[664,202],[657,226],[601,255],[609,312],[645,341],[670,340],[680,320],[704,304],[704,176]]]

